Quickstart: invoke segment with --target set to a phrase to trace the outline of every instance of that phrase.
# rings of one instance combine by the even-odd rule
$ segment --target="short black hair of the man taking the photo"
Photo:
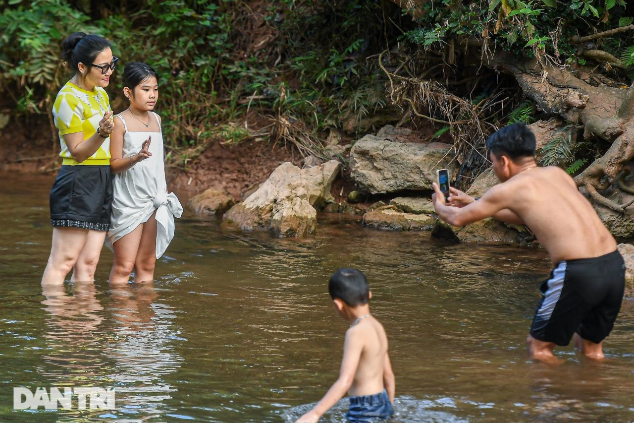
[[[511,160],[535,156],[535,135],[524,123],[514,123],[493,133],[486,140],[489,152],[500,157],[505,154]]]

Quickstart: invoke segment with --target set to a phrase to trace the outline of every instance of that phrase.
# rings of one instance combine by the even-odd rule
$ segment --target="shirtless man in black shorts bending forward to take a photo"
[[[602,342],[621,308],[625,265],[614,237],[560,168],[540,168],[535,137],[525,124],[512,124],[487,140],[493,171],[501,184],[480,199],[451,189],[449,204],[434,184],[436,213],[448,224],[468,225],[486,217],[526,225],[555,264],[542,283],[543,295],[526,339],[531,355],[553,359],[555,345],[575,346],[603,358]]]

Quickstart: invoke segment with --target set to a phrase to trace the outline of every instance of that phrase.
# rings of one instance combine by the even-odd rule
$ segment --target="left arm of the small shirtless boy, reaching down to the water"
[[[354,328],[353,328],[354,329]],[[339,379],[332,384],[328,392],[321,398],[321,401],[313,407],[313,410],[302,415],[296,423],[316,423],[323,413],[330,410],[353,384],[354,374],[359,365],[361,351],[363,351],[363,339],[361,332],[349,329],[346,332],[346,342],[344,344],[344,358],[341,361]]]

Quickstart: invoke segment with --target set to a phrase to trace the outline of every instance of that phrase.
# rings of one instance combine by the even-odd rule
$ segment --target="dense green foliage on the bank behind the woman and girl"
[[[49,114],[72,76],[60,65],[59,46],[76,30],[107,37],[121,58],[107,88],[115,111],[125,107],[120,81],[127,62],[140,60],[157,70],[157,112],[171,157],[181,164],[207,140],[252,138],[243,128],[247,110],[302,119],[319,138],[319,131],[340,125],[339,115],[351,112],[359,120],[385,106],[384,76],[365,60],[391,36],[375,1],[93,4],[0,0],[3,110]]]

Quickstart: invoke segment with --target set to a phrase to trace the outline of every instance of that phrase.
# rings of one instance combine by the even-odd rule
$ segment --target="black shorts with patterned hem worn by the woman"
[[[63,164],[51,195],[51,225],[108,231],[112,210],[110,166]]]

